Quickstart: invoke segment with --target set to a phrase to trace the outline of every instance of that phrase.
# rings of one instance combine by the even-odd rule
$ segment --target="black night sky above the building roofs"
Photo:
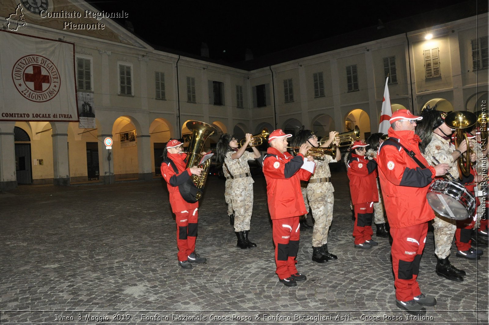
[[[375,26],[379,19],[388,23],[464,1],[88,2],[107,12],[128,12],[127,20],[133,23],[134,33],[150,44],[200,55],[200,45],[205,42],[212,59],[237,62],[244,60],[246,48],[256,58]],[[125,19],[117,21],[124,24]]]

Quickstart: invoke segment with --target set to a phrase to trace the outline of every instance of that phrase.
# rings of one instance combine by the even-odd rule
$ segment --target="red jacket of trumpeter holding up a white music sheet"
[[[288,152],[268,148],[263,160],[263,173],[267,180],[268,211],[272,219],[307,213],[300,181],[308,181],[312,174],[300,169],[303,163],[302,154],[292,157]]]

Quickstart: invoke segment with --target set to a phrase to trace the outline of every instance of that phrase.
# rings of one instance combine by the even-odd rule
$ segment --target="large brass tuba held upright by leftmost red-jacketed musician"
[[[207,159],[205,162],[200,164],[200,160],[203,155],[200,153],[204,147],[204,142],[207,138],[216,132],[216,129],[207,123],[199,121],[188,121],[185,126],[187,129],[192,131],[192,136],[187,147],[187,168],[199,167],[202,168],[202,173],[200,176],[192,175],[191,179],[197,188],[202,189],[207,180],[207,174],[209,174],[209,167],[211,160]],[[197,193],[196,199],[200,199],[200,193]]]

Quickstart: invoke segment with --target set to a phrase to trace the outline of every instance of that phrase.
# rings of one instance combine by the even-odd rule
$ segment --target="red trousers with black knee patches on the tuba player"
[[[198,208],[190,211],[175,213],[177,222],[178,260],[186,261],[188,255],[195,251],[195,237],[197,237]]]

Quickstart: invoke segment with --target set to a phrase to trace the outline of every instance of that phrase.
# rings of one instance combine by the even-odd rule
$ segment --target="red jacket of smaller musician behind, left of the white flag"
[[[352,204],[378,202],[377,163],[352,153],[348,160]]]

